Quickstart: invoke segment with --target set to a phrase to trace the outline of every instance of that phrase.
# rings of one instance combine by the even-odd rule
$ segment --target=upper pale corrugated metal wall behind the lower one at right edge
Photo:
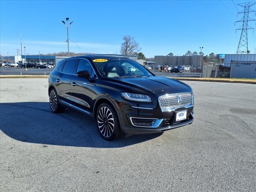
[[[230,67],[231,61],[256,61],[256,54],[226,54],[224,66]]]

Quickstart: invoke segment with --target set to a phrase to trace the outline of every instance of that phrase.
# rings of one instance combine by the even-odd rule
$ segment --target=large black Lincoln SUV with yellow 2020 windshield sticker
[[[133,67],[136,70],[129,71]],[[50,108],[91,115],[102,138],[156,133],[191,124],[192,88],[137,62],[104,55],[67,58],[49,76]],[[74,114],[75,115],[75,114]]]

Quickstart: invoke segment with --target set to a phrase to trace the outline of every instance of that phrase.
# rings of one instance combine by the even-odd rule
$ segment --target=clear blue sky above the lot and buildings
[[[235,4],[248,1],[234,0]],[[120,53],[122,37],[130,35],[146,57],[188,50],[204,54],[236,53],[242,23],[232,1],[0,1],[0,52],[16,54],[23,46],[29,54],[70,52]],[[242,7],[237,6],[238,10]],[[256,6],[253,7],[256,10]],[[255,18],[254,14],[251,14]],[[255,22],[250,26],[256,30]],[[256,48],[256,31],[248,32],[249,50]],[[74,43],[76,42],[76,43]]]

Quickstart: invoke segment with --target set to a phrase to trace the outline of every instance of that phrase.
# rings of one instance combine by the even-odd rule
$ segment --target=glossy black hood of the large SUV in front
[[[161,94],[176,93],[176,92],[192,92],[190,86],[166,77],[152,76],[152,77],[136,77],[136,78],[113,78],[114,82],[118,84],[126,84],[129,87],[143,90],[144,92],[160,92]]]

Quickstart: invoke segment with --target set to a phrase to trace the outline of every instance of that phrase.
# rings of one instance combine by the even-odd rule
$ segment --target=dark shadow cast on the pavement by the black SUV
[[[54,114],[48,102],[0,104],[0,129],[22,142],[96,148],[120,148],[138,144],[162,135],[141,134],[106,141],[98,133],[95,120],[76,110]]]

